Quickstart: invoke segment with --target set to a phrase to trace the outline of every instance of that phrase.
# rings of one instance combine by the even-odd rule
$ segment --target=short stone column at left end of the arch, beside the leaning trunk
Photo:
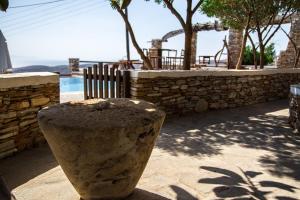
[[[151,41],[151,48],[149,49],[149,58],[154,68],[162,68],[162,40],[153,39]]]

